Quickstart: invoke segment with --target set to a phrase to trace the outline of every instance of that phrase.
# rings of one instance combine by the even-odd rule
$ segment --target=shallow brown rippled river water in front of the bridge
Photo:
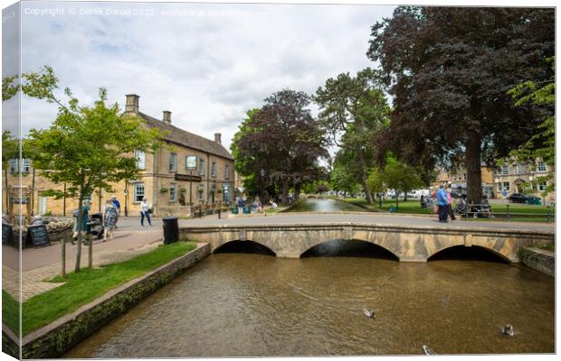
[[[552,353],[554,301],[553,278],[509,264],[217,254],[65,356]]]

